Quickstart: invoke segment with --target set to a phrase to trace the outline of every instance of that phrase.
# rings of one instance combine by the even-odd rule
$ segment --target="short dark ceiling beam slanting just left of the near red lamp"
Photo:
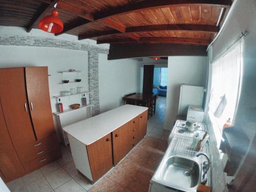
[[[35,24],[39,22],[39,20],[47,13],[49,9],[53,9],[53,6],[58,3],[59,0],[54,0],[50,4],[42,3],[42,6],[38,9],[34,17],[31,19],[31,22],[29,23],[27,27],[27,32],[29,33]]]

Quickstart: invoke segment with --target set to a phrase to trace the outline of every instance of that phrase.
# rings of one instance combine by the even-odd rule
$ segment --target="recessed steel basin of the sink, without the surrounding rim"
[[[165,183],[180,187],[195,187],[200,181],[200,168],[198,163],[182,157],[167,159],[160,175]]]

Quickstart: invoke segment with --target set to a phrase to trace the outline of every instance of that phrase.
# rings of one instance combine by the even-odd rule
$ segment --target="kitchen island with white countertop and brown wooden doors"
[[[146,135],[148,108],[122,105],[63,128],[78,171],[95,182]]]

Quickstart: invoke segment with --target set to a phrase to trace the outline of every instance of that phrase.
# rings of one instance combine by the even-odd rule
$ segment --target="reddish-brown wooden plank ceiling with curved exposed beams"
[[[38,28],[57,4],[63,33],[98,44],[207,46],[231,0],[0,0],[0,25]]]

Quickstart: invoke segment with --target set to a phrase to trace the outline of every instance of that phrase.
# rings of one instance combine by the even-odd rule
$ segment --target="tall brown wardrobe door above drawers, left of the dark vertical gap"
[[[36,141],[30,120],[24,68],[0,69],[0,98],[13,145]]]

